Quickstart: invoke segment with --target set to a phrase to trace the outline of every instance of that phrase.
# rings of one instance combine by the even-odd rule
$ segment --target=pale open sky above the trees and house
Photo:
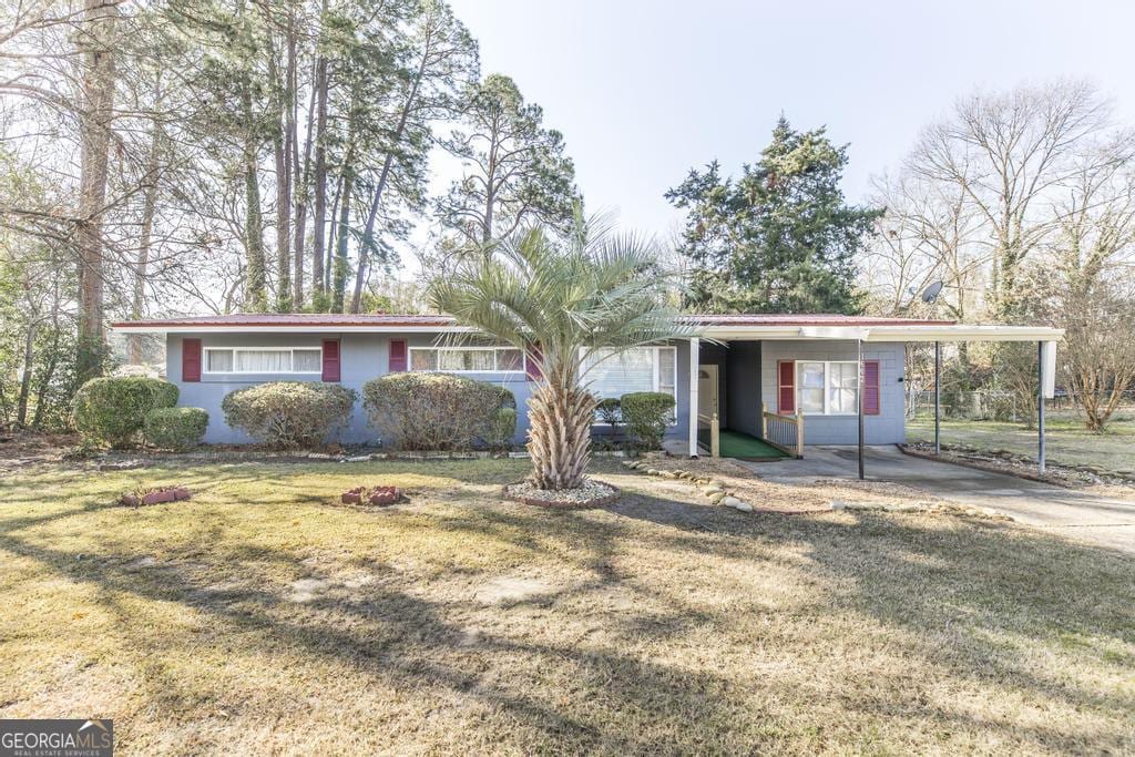
[[[959,95],[1087,77],[1135,124],[1135,2],[451,0],[482,70],[564,134],[588,210],[665,236],[663,193],[755,160],[781,111],[850,143],[844,190],[894,167]]]

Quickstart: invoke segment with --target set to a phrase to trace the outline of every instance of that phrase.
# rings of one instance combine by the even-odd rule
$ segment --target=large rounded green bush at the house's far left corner
[[[116,449],[133,445],[145,414],[177,404],[177,387],[138,376],[91,379],[75,395],[73,419],[83,439]]]

